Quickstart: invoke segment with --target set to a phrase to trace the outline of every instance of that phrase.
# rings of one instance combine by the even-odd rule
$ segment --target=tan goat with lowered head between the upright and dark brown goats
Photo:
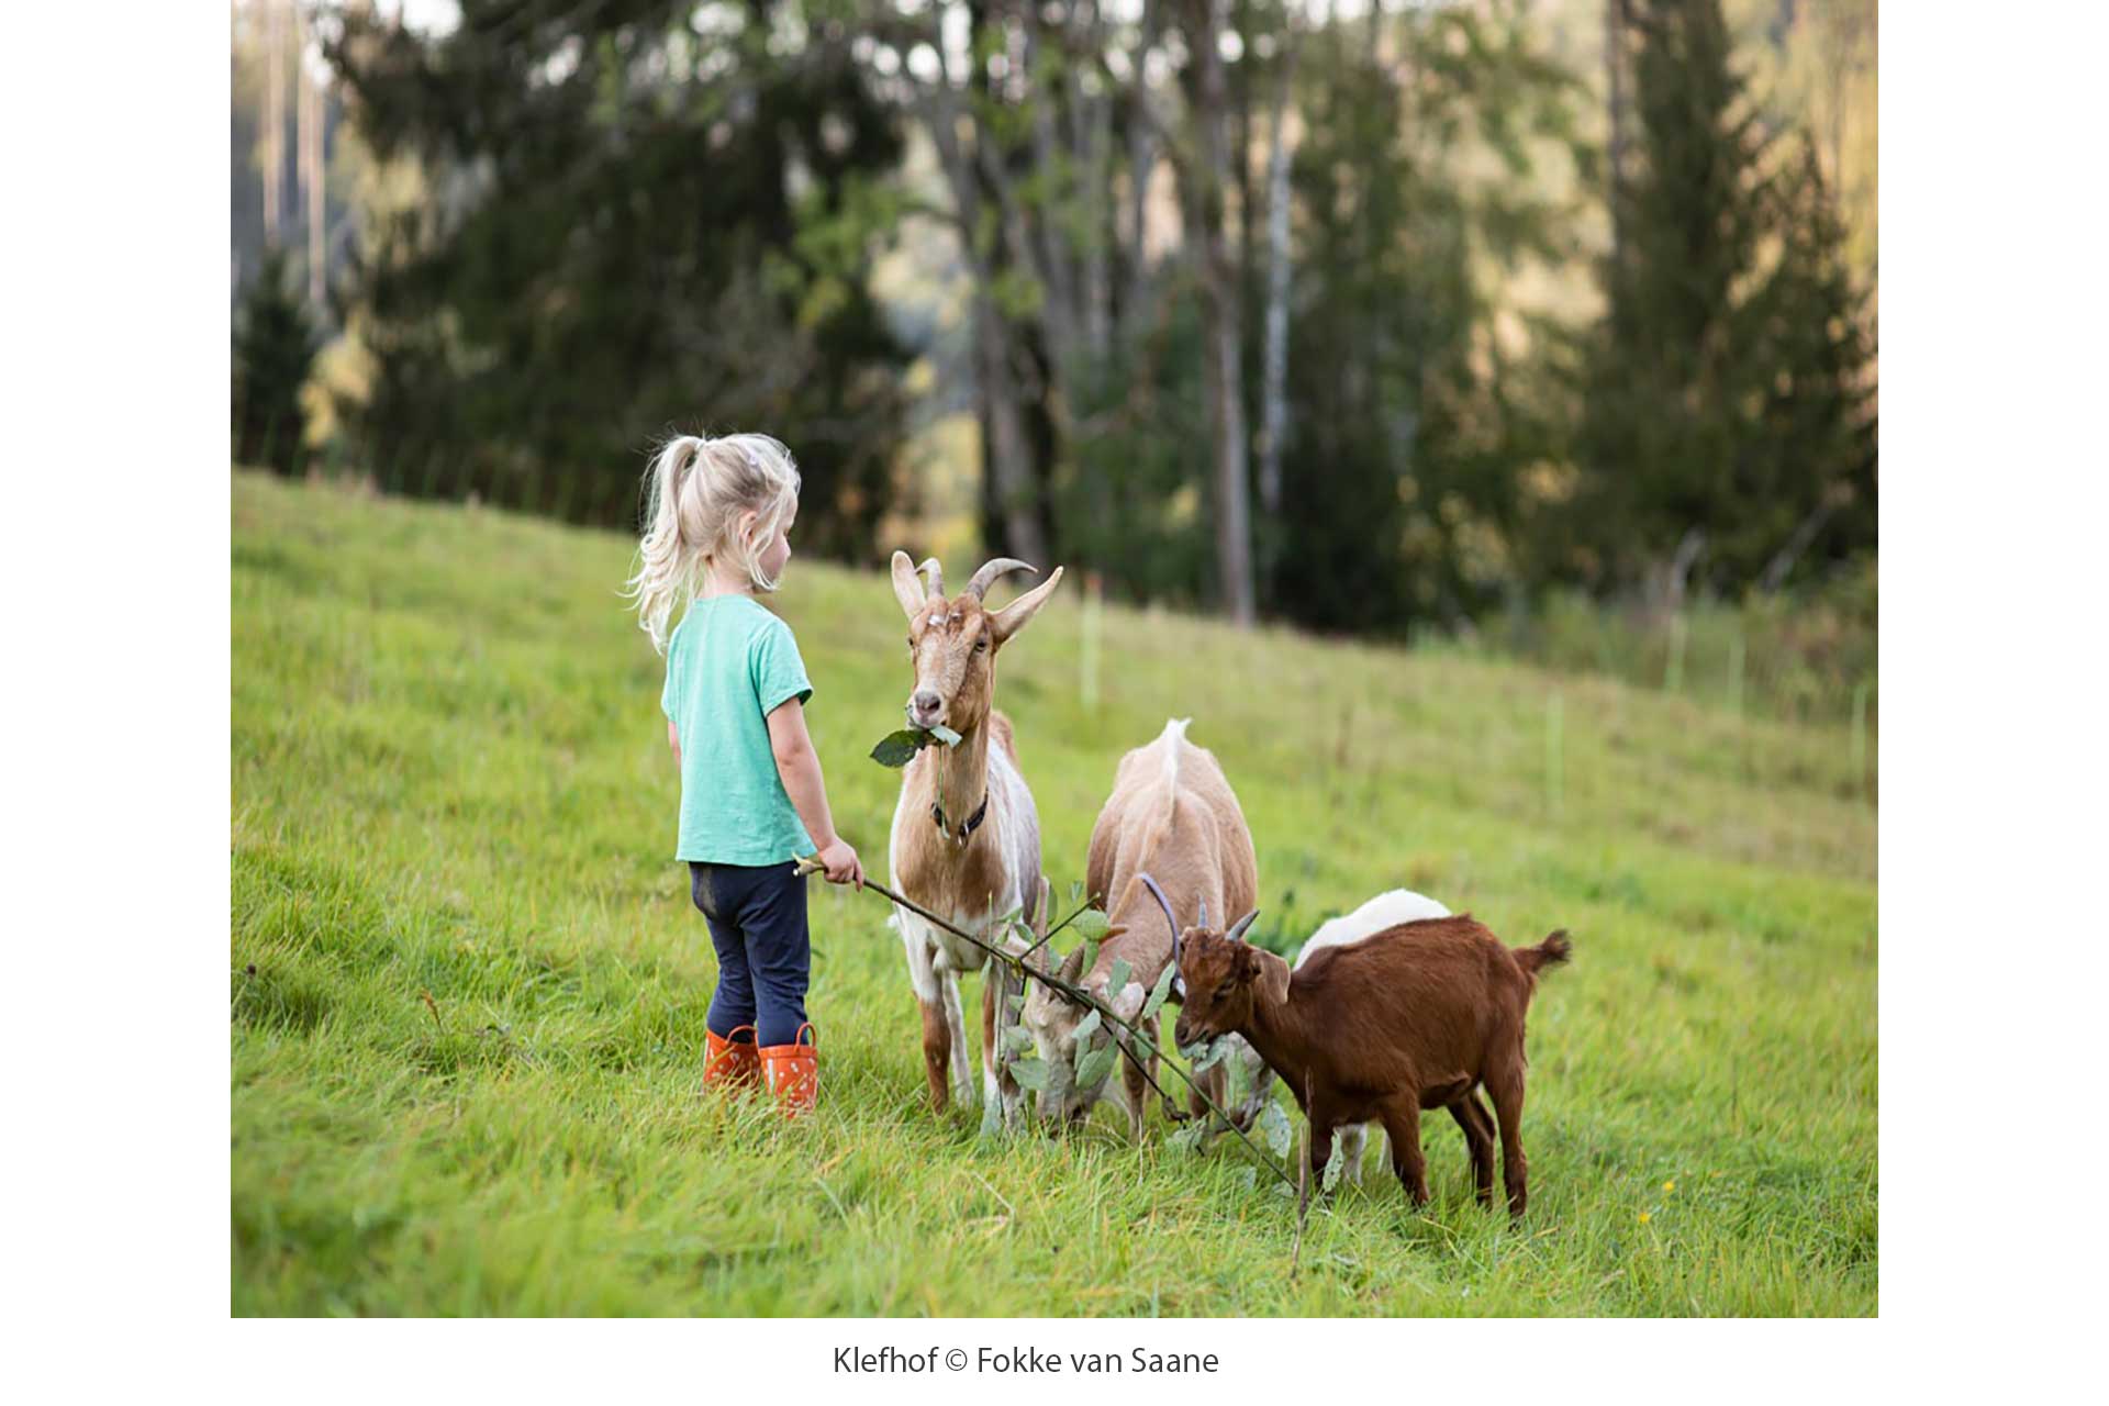
[[[1061,978],[1084,987],[1133,1022],[1149,1048],[1149,1079],[1158,1075],[1158,1018],[1137,1020],[1149,991],[1173,961],[1175,934],[1158,919],[1156,898],[1143,875],[1154,875],[1170,904],[1200,915],[1242,913],[1259,900],[1259,860],[1253,833],[1238,809],[1238,797],[1215,755],[1187,742],[1187,723],[1170,719],[1156,742],[1133,748],[1114,774],[1114,793],[1090,828],[1084,871],[1086,892],[1105,904],[1109,919],[1099,957],[1084,972],[1084,944],[1061,965]],[[1128,980],[1109,991],[1114,963],[1128,963]],[[1143,1136],[1145,1090],[1149,1083],[1135,1060],[1118,1058],[1116,1079],[1107,1073],[1090,1088],[1078,1088],[1076,1033],[1088,1022],[1086,1008],[1046,984],[1033,984],[1025,999],[1025,1029],[1046,1062],[1048,1083],[1040,1092],[1042,1117],[1082,1119],[1101,1098],[1111,1096],[1128,1115],[1128,1132]],[[1086,1037],[1105,1046],[1114,1031],[1103,1022]],[[1223,1102],[1227,1067],[1208,1071],[1208,1094]],[[1194,1100],[1194,1111],[1202,1109]]]

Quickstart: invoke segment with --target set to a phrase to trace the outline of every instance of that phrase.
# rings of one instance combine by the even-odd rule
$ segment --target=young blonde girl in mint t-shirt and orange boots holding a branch
[[[816,854],[831,883],[865,885],[806,736],[812,683],[797,641],[755,601],[791,561],[797,466],[768,434],[683,434],[652,460],[645,497],[628,594],[666,656],[660,708],[681,772],[675,858],[688,860],[690,896],[717,949],[702,1083],[763,1086],[795,1117],[820,1083],[795,860]],[[669,641],[677,603],[685,613]]]

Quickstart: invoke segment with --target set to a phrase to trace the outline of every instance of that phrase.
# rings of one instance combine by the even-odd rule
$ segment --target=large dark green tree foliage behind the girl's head
[[[808,19],[468,0],[426,38],[348,15],[331,59],[367,141],[441,190],[361,261],[367,457],[628,525],[654,438],[763,426],[795,443],[804,540],[863,550],[901,441],[905,352],[867,278],[901,135]]]

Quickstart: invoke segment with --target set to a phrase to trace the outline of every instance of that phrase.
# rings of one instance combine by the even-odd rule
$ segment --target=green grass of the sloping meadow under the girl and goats
[[[1293,1206],[1234,1143],[934,1117],[871,896],[814,885],[816,1117],[696,1096],[713,957],[628,554],[234,476],[236,1313],[1875,1311],[1875,812],[1843,727],[1118,609],[1088,717],[1059,594],[1000,685],[1059,894],[1120,753],[1194,715],[1276,942],[1396,883],[1510,942],[1573,930],[1531,1012],[1529,1218],[1481,1212],[1430,1119],[1426,1214],[1371,1153],[1291,1280]],[[884,873],[898,607],[806,561],[776,605]]]

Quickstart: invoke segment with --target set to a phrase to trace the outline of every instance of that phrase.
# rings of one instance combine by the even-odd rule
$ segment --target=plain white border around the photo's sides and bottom
[[[757,1398],[827,1349],[1236,1353],[1238,1393],[1820,1398],[2071,1358],[2098,1239],[2103,19],[1890,6],[1883,268],[1883,1313],[1892,1324],[232,1324],[224,11],[13,17],[6,580],[13,1086],[30,1360],[236,1400]],[[23,647],[27,643],[27,647]],[[25,902],[23,902],[25,900]],[[2088,1277],[2084,1277],[2088,1275]],[[200,1332],[202,1328],[202,1332]],[[348,1339],[346,1334],[356,1334]],[[1527,1336],[1518,1336],[1527,1334]],[[346,1351],[356,1341],[356,1349]],[[588,1351],[601,1347],[603,1351]],[[496,1349],[496,1351],[494,1351]],[[506,1351],[515,1349],[515,1351]],[[614,1349],[614,1351],[605,1351]],[[2065,1366],[2077,1366],[2065,1362]],[[1179,1379],[1173,1379],[1179,1381]],[[1052,1400],[1071,1379],[995,1383]]]

